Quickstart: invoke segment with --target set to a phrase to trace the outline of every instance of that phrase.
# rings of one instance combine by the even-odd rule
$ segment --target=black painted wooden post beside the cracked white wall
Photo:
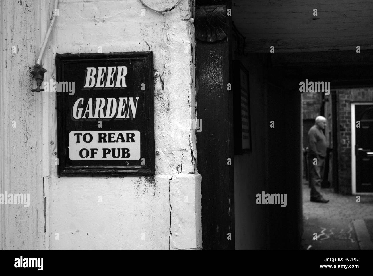
[[[197,1],[195,11],[197,117],[203,121],[197,133],[203,249],[235,249],[230,7],[230,1]]]

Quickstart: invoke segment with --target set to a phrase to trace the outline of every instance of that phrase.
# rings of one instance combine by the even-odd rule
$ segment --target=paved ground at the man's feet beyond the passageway
[[[330,200],[328,203],[310,202],[308,183],[303,185],[304,231],[301,249],[359,250],[366,249],[367,246],[370,248],[370,240],[373,239],[373,196],[360,196],[360,202],[356,202],[356,196],[335,194],[333,189],[324,188],[322,193]],[[367,239],[364,241],[362,238],[364,234],[368,236],[368,243]]]

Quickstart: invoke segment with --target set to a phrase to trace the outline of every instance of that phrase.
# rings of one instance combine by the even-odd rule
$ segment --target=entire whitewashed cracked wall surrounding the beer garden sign
[[[54,1],[13,2],[1,3],[1,15],[7,15],[6,22],[1,17],[1,36],[20,48],[12,56],[10,41],[1,40],[1,123],[6,135],[1,190],[27,191],[32,201],[29,208],[0,206],[2,247],[201,248],[201,175],[195,170],[195,131],[186,123],[195,117],[192,1],[182,0],[164,14],[140,0],[60,1],[43,58],[48,70],[44,80],[49,80],[56,73],[55,53],[94,53],[98,47],[102,52],[153,51],[154,69],[160,73],[154,81],[155,146],[161,150],[154,178],[57,177],[56,95],[30,92],[27,73],[35,64]],[[162,9],[176,0],[146,3]],[[12,67],[4,69],[5,61]],[[19,120],[15,129],[13,118]]]

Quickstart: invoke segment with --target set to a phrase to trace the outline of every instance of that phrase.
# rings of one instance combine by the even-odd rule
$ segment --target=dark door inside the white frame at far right
[[[356,104],[355,118],[356,192],[373,192],[373,104]]]

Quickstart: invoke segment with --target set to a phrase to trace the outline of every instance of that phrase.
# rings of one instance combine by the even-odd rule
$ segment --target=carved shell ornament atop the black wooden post
[[[195,32],[198,40],[216,42],[227,36],[225,5],[200,6],[195,10]]]

